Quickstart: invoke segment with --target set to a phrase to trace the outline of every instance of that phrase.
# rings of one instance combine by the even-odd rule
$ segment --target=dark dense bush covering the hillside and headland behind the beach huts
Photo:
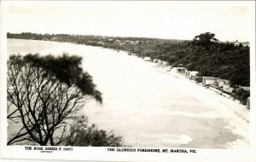
[[[233,85],[250,85],[248,47],[234,43],[220,43],[210,32],[195,36],[193,40],[158,38],[113,38],[67,34],[8,33],[8,38],[51,40],[121,49],[140,57],[168,61],[172,67],[183,65],[188,70],[199,71],[203,76],[229,79]]]

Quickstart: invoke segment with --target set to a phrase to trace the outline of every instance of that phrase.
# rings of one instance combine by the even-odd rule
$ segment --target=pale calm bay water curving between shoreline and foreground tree
[[[131,147],[247,147],[243,120],[198,85],[159,72],[137,57],[71,43],[8,39],[8,53],[83,56],[83,68],[102,92],[84,114]],[[237,124],[237,123],[242,123]],[[239,131],[238,131],[239,130]]]

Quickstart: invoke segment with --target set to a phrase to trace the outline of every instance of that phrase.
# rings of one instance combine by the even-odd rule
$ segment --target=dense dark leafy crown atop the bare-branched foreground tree
[[[94,96],[96,101],[102,102],[102,94],[96,90],[92,78],[87,72],[83,72],[81,66],[82,58],[79,56],[61,56],[46,55],[26,55],[25,61],[32,63],[32,66],[43,68],[46,72],[51,73],[58,78],[60,82],[68,86],[77,86],[84,95]]]

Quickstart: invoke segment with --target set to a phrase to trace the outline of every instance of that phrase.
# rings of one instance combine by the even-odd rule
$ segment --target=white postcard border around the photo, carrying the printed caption
[[[11,2],[14,3],[14,2]],[[24,2],[21,2],[24,3]],[[26,2],[27,3],[27,2]],[[42,3],[42,2],[40,2]],[[49,3],[49,2],[47,2]],[[60,3],[60,2],[50,2],[50,3]],[[66,2],[67,3],[67,2]],[[70,2],[72,3],[72,2]],[[213,2],[211,2],[213,3]],[[214,2],[215,3],[215,2]],[[224,2],[226,5],[228,2]],[[66,160],[97,160],[97,161],[250,161],[255,158],[253,150],[256,150],[256,107],[255,100],[255,2],[247,2],[247,7],[250,9],[250,26],[251,26],[251,133],[250,133],[250,148],[247,150],[236,150],[236,149],[198,149],[195,148],[197,153],[142,153],[142,152],[118,152],[118,151],[108,151],[108,148],[82,148],[82,147],[72,147],[72,151],[54,151],[52,153],[41,153],[39,150],[26,150],[25,146],[6,146],[7,142],[7,119],[6,119],[6,28],[4,24],[4,5],[1,4],[1,157],[2,158],[14,158],[14,159],[66,159]],[[229,3],[230,4],[230,3]],[[22,4],[24,5],[24,4]],[[237,5],[237,3],[235,3]],[[48,147],[43,147],[48,148]],[[56,147],[70,148],[70,147]],[[116,148],[115,148],[116,149]],[[138,149],[138,148],[135,148]],[[166,149],[166,148],[160,148]],[[168,148],[177,149],[177,148]],[[180,148],[180,149],[193,149],[193,148]]]

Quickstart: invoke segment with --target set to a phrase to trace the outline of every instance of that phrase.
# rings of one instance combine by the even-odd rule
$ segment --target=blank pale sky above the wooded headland
[[[78,1],[6,3],[7,32],[249,41],[253,2]]]

